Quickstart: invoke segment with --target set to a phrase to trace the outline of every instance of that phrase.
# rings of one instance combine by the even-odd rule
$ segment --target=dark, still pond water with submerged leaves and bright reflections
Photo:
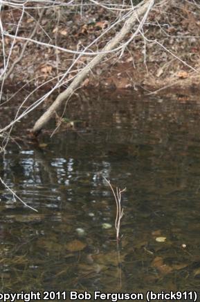
[[[200,292],[200,103],[82,93],[64,117],[2,158],[38,212],[1,185],[1,292]],[[119,244],[104,177],[126,187]]]

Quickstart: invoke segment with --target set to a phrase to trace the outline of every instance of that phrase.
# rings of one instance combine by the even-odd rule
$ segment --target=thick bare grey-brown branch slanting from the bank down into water
[[[80,86],[80,84],[82,83],[82,81],[84,81],[84,79],[87,77],[89,72],[91,72],[91,70],[94,67],[96,67],[96,65],[98,65],[105,56],[107,56],[107,51],[111,51],[112,49],[114,49],[116,45],[118,45],[125,38],[127,33],[131,32],[131,29],[133,28],[134,24],[138,22],[138,18],[144,15],[142,21],[138,26],[138,29],[131,37],[131,40],[136,35],[138,35],[153,5],[154,5],[154,0],[143,1],[141,6],[138,6],[137,10],[133,11],[129,19],[127,19],[127,21],[125,22],[124,26],[122,26],[121,30],[116,34],[115,37],[113,37],[111,41],[107,43],[104,49],[102,49],[102,53],[98,54],[95,58],[93,58],[89,62],[89,64],[86,67],[84,67],[81,72],[78,73],[78,75],[72,81],[71,85],[69,85],[69,87],[66,88],[64,92],[58,95],[54,103],[48,108],[48,110],[46,110],[46,112],[44,112],[42,117],[40,117],[36,121],[35,126],[33,127],[33,133],[37,134],[39,133],[39,131],[41,131],[41,129],[48,123],[51,117],[53,117],[56,110],[58,110],[62,106],[62,103],[64,103],[64,101],[68,99],[71,96],[71,94],[73,94],[75,89],[77,89]],[[128,42],[130,42],[130,40]],[[126,45],[127,43],[125,43],[125,46]]]

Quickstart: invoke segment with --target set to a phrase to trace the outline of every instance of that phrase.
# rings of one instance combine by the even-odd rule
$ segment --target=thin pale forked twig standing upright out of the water
[[[121,194],[122,194],[122,192],[125,192],[126,188],[123,190],[120,190],[119,187],[116,187],[116,192],[115,192],[110,181],[108,181],[107,178],[105,178],[105,177],[104,177],[104,180],[109,184],[109,187],[111,188],[111,191],[113,192],[113,196],[116,201],[116,238],[117,238],[117,240],[119,240],[120,222],[121,222],[122,216],[124,215],[124,209],[121,208],[121,196],[122,196]]]

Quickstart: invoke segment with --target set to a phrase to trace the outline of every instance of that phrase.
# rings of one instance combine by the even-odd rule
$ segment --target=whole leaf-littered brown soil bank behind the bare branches
[[[35,20],[39,20],[34,40],[75,50],[78,45],[81,48],[100,35],[105,26],[115,21],[117,15],[115,10],[94,5],[83,6],[81,12],[80,9],[65,6],[44,8],[43,12],[30,9],[21,19],[18,33],[21,37],[30,37],[35,28]],[[1,13],[5,32],[15,33],[20,17],[21,10],[5,6]],[[199,90],[199,20],[200,6],[195,1],[155,1],[147,22],[128,48],[125,48],[123,55],[120,57],[118,53],[115,57],[108,56],[82,85],[135,90],[141,87],[150,93],[156,90],[160,92],[165,88]],[[138,24],[136,28],[137,26]],[[136,28],[133,28],[133,32]],[[99,46],[103,47],[109,38],[107,36]],[[11,43],[12,39],[6,36],[4,47],[6,46],[7,55]],[[24,40],[16,40],[10,56],[10,67],[19,59],[25,43]],[[2,49],[1,41],[3,56]],[[23,56],[10,72],[5,84],[27,83],[37,87],[62,74],[72,60],[73,56],[69,53],[28,42]],[[86,56],[82,57],[75,67],[84,67],[87,60]],[[3,68],[3,61],[0,67]],[[70,76],[73,75],[72,73]],[[51,87],[56,81],[57,79],[51,81],[45,87]]]

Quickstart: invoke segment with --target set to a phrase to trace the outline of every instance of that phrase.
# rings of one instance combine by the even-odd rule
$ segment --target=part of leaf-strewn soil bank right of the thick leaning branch
[[[110,64],[98,83],[147,92],[200,89],[200,5],[166,1],[152,10],[144,36],[122,60]],[[150,25],[149,25],[150,24]],[[93,81],[93,84],[95,82]]]

